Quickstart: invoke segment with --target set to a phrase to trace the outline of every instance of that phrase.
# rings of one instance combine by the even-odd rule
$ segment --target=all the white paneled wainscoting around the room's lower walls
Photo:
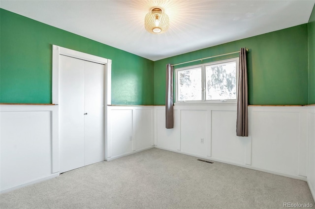
[[[1,105],[0,190],[59,175],[58,106]],[[107,106],[107,160],[157,147],[301,180],[315,196],[315,106],[250,106],[238,137],[236,105]]]

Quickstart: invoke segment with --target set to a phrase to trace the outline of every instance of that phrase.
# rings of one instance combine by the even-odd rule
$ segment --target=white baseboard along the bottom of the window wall
[[[307,181],[307,178],[304,177],[304,176],[295,176],[295,175],[291,175],[291,174],[287,174],[287,173],[281,173],[279,171],[267,170],[267,169],[263,169],[263,168],[257,168],[257,167],[251,166],[251,165],[245,165],[245,164],[243,165],[243,164],[239,164],[239,163],[235,163],[235,162],[229,162],[229,161],[225,161],[225,160],[221,160],[221,159],[216,159],[216,158],[213,158],[213,157],[204,157],[204,156],[193,155],[193,154],[190,154],[190,153],[185,153],[185,152],[182,152],[182,151],[169,150],[169,149],[161,148],[161,147],[158,147],[158,146],[155,146],[155,148],[158,148],[158,149],[161,149],[161,150],[170,151],[170,152],[180,153],[180,154],[183,154],[183,155],[189,155],[189,156],[192,156],[192,157],[199,157],[199,158],[209,159],[209,160],[222,162],[222,163],[226,163],[226,164],[230,164],[230,165],[236,165],[236,166],[239,166],[239,167],[249,168],[249,169],[252,169],[252,170],[262,171],[262,172],[265,172],[265,173],[275,174],[275,175],[284,176],[284,177],[288,177],[288,178],[292,178],[292,179],[298,179],[298,180],[302,180],[302,181]]]

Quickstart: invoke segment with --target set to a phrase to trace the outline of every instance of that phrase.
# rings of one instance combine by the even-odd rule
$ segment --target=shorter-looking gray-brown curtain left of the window
[[[166,129],[173,129],[173,66],[166,65],[166,99],[165,99]]]

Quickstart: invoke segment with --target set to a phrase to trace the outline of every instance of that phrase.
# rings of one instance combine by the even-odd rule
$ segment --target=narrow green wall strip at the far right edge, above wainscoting
[[[315,104],[315,7],[308,23],[309,38],[309,104]]]

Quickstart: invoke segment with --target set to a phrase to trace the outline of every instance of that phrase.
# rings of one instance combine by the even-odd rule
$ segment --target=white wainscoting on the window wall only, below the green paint
[[[250,106],[249,137],[236,136],[236,105],[176,105],[174,129],[156,106],[157,148],[306,180],[308,108]]]

